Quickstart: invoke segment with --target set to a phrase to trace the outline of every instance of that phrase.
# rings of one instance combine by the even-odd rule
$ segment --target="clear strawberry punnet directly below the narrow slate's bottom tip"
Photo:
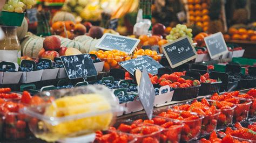
[[[146,115],[139,115],[130,118],[134,122],[142,121],[148,121],[149,118],[147,118]],[[153,116],[151,121],[153,120],[153,124],[159,125],[163,127],[163,131],[160,135],[160,142],[179,142],[181,137],[181,130],[184,126],[183,123],[180,121],[174,120],[174,119],[165,119],[162,117],[156,117]]]

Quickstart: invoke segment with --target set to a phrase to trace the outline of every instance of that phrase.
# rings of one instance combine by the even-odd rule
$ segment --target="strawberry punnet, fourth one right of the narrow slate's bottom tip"
[[[217,93],[213,94],[210,99],[215,101],[226,101],[236,105],[234,109],[233,121],[242,121],[248,118],[248,113],[252,101],[250,99],[245,99],[245,95],[239,94],[239,91],[225,92],[222,95]]]

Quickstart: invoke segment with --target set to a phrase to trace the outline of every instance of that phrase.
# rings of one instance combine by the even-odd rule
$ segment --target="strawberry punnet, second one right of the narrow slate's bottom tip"
[[[217,120],[220,115],[220,110],[218,110],[216,106],[210,105],[206,99],[202,99],[201,102],[194,99],[193,101],[187,103],[188,104],[174,105],[173,109],[196,112],[200,115],[204,115],[205,118],[202,122],[201,134],[209,134],[216,130]]]

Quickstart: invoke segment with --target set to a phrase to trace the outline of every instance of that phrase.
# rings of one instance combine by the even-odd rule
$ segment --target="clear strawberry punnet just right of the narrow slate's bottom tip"
[[[159,118],[172,119],[172,118],[169,118],[169,117],[162,117],[161,116],[161,114],[167,113],[169,111],[177,113],[179,115],[179,117],[180,117],[181,113],[184,112],[184,111],[181,111],[181,110],[171,109],[171,107],[169,106],[166,109],[160,109],[160,110],[154,111],[153,115],[155,117],[159,117]],[[192,119],[192,120],[174,119],[174,120],[177,120],[177,121],[181,121],[181,123],[184,123],[184,126],[183,126],[182,131],[181,131],[181,141],[194,140],[194,139],[198,138],[198,136],[200,134],[202,120],[203,120],[204,116],[199,115],[198,113],[194,113],[194,112],[190,112],[190,115],[191,116],[198,116],[199,118]]]

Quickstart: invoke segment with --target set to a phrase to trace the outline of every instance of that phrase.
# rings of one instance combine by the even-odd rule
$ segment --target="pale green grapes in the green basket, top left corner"
[[[35,0],[8,0],[5,2],[3,11],[22,13],[25,9],[31,9]]]

